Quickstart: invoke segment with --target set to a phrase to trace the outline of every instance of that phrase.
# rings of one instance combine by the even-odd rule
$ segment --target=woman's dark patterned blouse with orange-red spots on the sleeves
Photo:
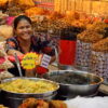
[[[17,50],[24,53],[22,46],[19,45],[19,41],[17,40],[17,37],[12,37],[6,40],[6,52],[9,50]],[[55,55],[55,51],[50,45],[49,40],[41,40],[41,38],[37,38],[35,36],[31,37],[31,45],[29,52],[45,53],[51,56]]]

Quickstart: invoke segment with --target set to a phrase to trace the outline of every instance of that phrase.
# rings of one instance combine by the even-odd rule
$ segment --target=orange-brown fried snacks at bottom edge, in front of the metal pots
[[[67,108],[63,100],[43,100],[36,98],[27,98],[18,108]]]

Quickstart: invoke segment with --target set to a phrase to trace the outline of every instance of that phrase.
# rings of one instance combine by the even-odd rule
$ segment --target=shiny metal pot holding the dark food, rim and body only
[[[87,78],[89,82],[86,84],[68,84],[68,83],[62,83],[59,82],[59,95],[64,97],[73,97],[76,95],[81,96],[90,96],[94,95],[97,92],[97,89],[99,87],[100,83],[103,82],[103,78],[99,78],[93,73],[89,72],[81,72],[81,71],[72,71],[72,70],[59,70],[59,71],[52,71],[44,76],[44,78],[52,80],[53,77],[64,76],[64,73],[73,73],[79,75],[84,78]],[[68,79],[68,78],[67,78]],[[75,79],[75,78],[73,78]]]

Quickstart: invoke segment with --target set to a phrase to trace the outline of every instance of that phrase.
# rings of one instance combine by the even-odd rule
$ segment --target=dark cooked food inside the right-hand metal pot
[[[79,73],[62,73],[52,75],[48,79],[64,84],[92,84],[94,81],[90,77],[81,76]],[[97,83],[97,81],[95,81]]]

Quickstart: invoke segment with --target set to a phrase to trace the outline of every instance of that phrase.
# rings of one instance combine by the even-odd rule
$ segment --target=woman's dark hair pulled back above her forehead
[[[17,28],[17,25],[22,19],[26,19],[29,24],[31,24],[31,19],[29,17],[27,17],[26,15],[19,15],[14,19],[14,29]]]

